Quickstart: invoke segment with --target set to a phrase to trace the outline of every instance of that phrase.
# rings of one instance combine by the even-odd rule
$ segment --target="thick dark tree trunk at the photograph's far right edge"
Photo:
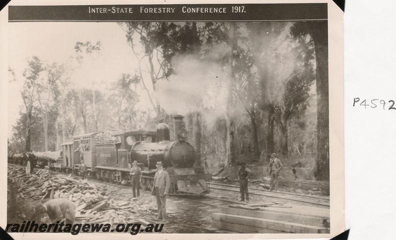
[[[327,22],[317,22],[311,32],[315,44],[317,94],[316,179],[329,180],[329,76]]]

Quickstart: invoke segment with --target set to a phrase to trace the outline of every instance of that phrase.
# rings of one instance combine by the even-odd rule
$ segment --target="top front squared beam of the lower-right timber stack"
[[[265,218],[265,219],[272,219],[272,220],[279,220],[285,222],[295,222],[304,225],[312,225],[317,227],[330,227],[328,224],[327,218],[320,218],[320,217],[310,217],[310,216],[301,216],[296,214],[287,214],[287,213],[277,213],[277,212],[268,212],[268,211],[251,211],[251,210],[244,210],[244,209],[236,209],[230,207],[220,207],[220,213],[225,214],[234,214],[234,215],[241,215],[241,216],[248,216],[248,217],[256,217],[256,218]]]

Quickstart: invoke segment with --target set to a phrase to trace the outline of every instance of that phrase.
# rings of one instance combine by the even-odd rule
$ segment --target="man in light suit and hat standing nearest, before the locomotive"
[[[166,217],[166,202],[165,197],[169,194],[170,179],[169,174],[163,170],[163,164],[161,161],[157,161],[155,165],[157,172],[154,176],[154,184],[152,186],[151,195],[155,196],[158,206],[157,220],[165,221]]]

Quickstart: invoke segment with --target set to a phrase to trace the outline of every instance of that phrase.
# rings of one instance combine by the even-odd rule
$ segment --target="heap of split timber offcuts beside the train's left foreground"
[[[105,186],[96,186],[71,176],[53,175],[48,169],[35,170],[34,174],[28,176],[24,168],[8,167],[8,178],[16,186],[19,201],[39,203],[58,198],[73,201],[78,223],[143,222],[144,225],[144,219],[156,215],[157,211],[152,201],[114,200],[107,195],[109,191]]]

